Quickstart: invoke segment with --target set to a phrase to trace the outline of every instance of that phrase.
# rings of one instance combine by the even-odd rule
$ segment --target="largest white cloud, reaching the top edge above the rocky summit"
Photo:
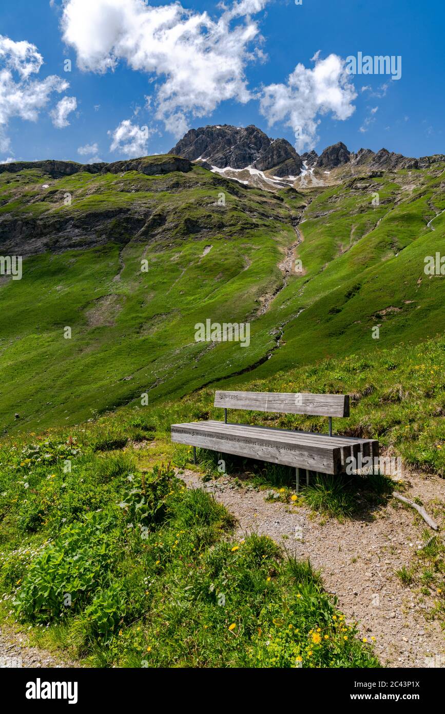
[[[213,19],[179,2],[151,7],[140,0],[66,0],[61,27],[84,71],[103,73],[126,61],[158,76],[155,117],[178,134],[188,129],[190,116],[210,114],[225,99],[251,99],[245,64],[254,59],[250,46],[260,36],[250,14],[265,4],[242,0]],[[240,16],[245,21],[232,26]]]

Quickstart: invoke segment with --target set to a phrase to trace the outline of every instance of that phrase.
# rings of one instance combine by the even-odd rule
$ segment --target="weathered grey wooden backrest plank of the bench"
[[[312,416],[349,416],[349,394],[217,391],[214,406]]]

